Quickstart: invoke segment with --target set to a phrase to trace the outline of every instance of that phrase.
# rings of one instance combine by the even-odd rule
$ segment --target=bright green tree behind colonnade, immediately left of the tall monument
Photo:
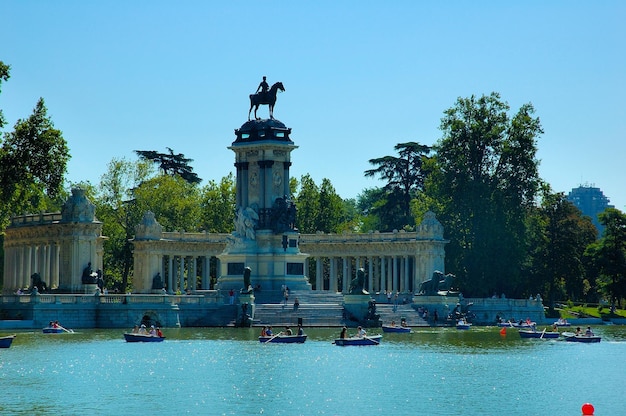
[[[200,192],[200,228],[211,233],[230,233],[235,222],[235,179],[210,181]]]

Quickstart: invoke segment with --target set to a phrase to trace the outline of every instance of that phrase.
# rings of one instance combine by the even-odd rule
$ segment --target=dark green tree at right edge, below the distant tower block
[[[590,246],[592,257],[600,273],[601,289],[611,304],[622,305],[626,297],[626,215],[615,208],[607,208],[598,216],[604,232],[600,240]]]

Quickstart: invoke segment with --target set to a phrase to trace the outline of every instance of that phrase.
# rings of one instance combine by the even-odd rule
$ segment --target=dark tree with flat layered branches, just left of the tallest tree
[[[426,172],[422,167],[431,148],[416,142],[407,142],[395,145],[394,150],[398,151],[399,156],[370,159],[369,163],[377,167],[365,171],[366,177],[380,176],[387,182],[382,188],[385,192],[382,205],[371,207],[381,215],[396,213],[381,221],[385,229],[415,225],[411,215],[411,199],[424,187]]]

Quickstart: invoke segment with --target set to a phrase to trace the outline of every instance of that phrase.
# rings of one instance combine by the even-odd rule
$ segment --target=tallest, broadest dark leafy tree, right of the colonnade
[[[426,181],[450,244],[446,269],[472,296],[516,294],[526,261],[527,211],[541,183],[535,158],[543,131],[525,104],[512,119],[500,95],[459,98],[444,112],[443,137]],[[423,208],[423,207],[422,207]]]

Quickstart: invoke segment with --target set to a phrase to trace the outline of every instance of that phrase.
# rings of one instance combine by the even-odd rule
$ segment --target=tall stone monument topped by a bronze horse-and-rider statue
[[[235,130],[236,139],[229,146],[235,153],[237,214],[235,231],[218,256],[220,290],[240,290],[246,268],[250,268],[252,286],[263,290],[311,287],[305,276],[307,255],[299,249],[295,204],[289,190],[291,152],[297,146],[291,140],[291,129],[273,117],[278,90],[284,91],[282,83],[259,93],[271,99],[251,95],[251,109],[269,104],[270,118],[257,119],[255,109],[255,119]]]

